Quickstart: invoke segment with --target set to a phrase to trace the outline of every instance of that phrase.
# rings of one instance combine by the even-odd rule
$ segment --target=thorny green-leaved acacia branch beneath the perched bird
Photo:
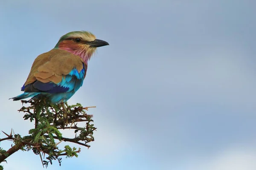
[[[52,105],[45,100],[34,99],[29,101],[22,100],[21,102],[22,104],[30,104],[27,107],[23,106],[18,111],[25,113],[23,116],[25,120],[29,119],[30,122],[35,121],[35,128],[30,129],[29,135],[23,137],[19,134],[13,135],[13,130],[10,134],[2,131],[7,137],[0,139],[0,142],[11,140],[15,145],[7,151],[0,148],[0,163],[18,150],[33,150],[36,155],[40,156],[43,166],[48,167],[48,163],[52,164],[52,160],[58,160],[61,165],[60,156],[77,157],[77,153],[81,149],[76,150],[75,147],[71,148],[69,145],[66,145],[64,149],[59,149],[58,144],[64,141],[89,148],[90,145],[87,143],[94,141],[93,131],[96,128],[91,124],[93,122],[93,115],[88,115],[85,112],[88,111],[88,108],[95,108],[94,106],[82,107],[79,103],[76,105],[67,105],[66,103],[67,108],[63,109],[59,105]],[[64,111],[67,114],[68,126],[64,125]],[[78,122],[86,123],[84,127],[78,127]],[[63,137],[59,129],[72,129],[74,130],[75,137]],[[48,154],[46,158],[48,161],[43,161],[42,154]]]

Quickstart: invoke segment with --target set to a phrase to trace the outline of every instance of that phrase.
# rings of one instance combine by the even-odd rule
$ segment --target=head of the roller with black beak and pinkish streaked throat
[[[87,63],[96,48],[105,45],[109,45],[108,42],[96,39],[95,35],[88,31],[73,31],[63,35],[55,48],[73,53]]]

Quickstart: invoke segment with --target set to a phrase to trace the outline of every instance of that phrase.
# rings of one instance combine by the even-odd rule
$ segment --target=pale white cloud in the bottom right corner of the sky
[[[256,170],[254,146],[233,145],[215,153],[184,156],[179,162],[162,164],[161,170]]]

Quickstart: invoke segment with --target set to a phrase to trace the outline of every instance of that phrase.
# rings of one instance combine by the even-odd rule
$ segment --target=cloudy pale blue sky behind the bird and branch
[[[20,102],[8,99],[21,93],[35,57],[63,34],[88,30],[110,45],[90,60],[84,85],[69,103],[97,106],[90,110],[96,141],[49,170],[255,170],[255,5],[1,2],[0,129],[27,134],[32,124],[17,113]],[[5,170],[43,169],[32,152],[7,161]]]

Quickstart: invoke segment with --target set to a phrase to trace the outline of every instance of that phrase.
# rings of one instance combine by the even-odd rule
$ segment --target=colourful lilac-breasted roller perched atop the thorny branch
[[[83,85],[87,63],[97,47],[109,45],[87,31],[73,31],[63,35],[55,47],[39,55],[30,70],[23,94],[13,97],[48,98],[52,104],[66,102]]]

